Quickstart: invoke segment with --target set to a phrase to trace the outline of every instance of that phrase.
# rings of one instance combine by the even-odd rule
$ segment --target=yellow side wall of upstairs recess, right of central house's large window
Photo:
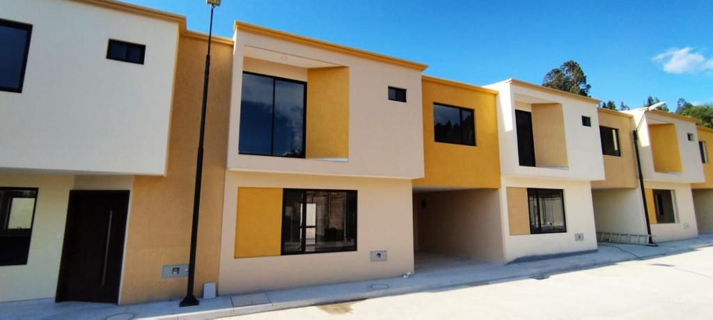
[[[307,158],[349,158],[349,68],[307,71]]]

